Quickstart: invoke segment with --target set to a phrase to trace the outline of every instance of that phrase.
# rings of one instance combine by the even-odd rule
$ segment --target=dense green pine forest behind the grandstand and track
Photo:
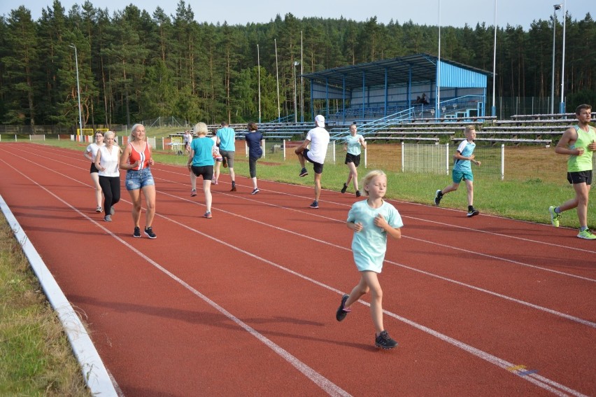
[[[555,98],[562,21],[557,20]],[[567,15],[565,97],[596,105],[596,23]],[[0,18],[0,124],[131,125],[174,116],[243,123],[293,114],[295,62],[304,73],[404,55],[437,55],[436,26],[277,15],[269,23],[199,23],[184,0],[175,15],[134,5],[110,13],[90,1],[68,12],[55,0],[32,20],[24,6]],[[441,27],[441,58],[492,72],[494,27]],[[258,49],[257,49],[258,46]],[[498,97],[550,97],[553,20],[497,29]],[[76,54],[75,48],[76,47]],[[258,52],[258,53],[257,53]],[[257,67],[260,64],[260,69]],[[278,81],[279,80],[279,81]],[[300,79],[297,78],[298,84]],[[492,96],[489,78],[488,97]],[[297,88],[300,92],[300,86]],[[299,95],[299,94],[298,94]],[[304,79],[305,116],[308,81]],[[555,101],[558,103],[558,101]],[[487,106],[488,107],[488,106]]]

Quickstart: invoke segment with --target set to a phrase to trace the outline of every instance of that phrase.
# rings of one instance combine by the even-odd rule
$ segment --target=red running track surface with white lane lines
[[[574,230],[392,200],[381,351],[367,296],[335,320],[353,195],[313,210],[312,187],[223,175],[204,219],[159,164],[157,239],[134,239],[123,186],[112,223],[94,213],[82,151],[0,144],[0,194],[125,396],[596,395],[596,242]]]

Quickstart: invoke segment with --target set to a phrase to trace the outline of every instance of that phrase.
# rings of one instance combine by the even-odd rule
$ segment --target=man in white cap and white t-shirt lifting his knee
[[[309,144],[311,148],[307,149],[306,147]],[[311,204],[311,208],[319,207],[322,167],[325,162],[325,155],[327,155],[328,145],[329,132],[325,130],[325,118],[319,114],[315,117],[315,127],[308,131],[304,142],[295,150],[302,167],[299,176],[308,175],[305,167],[306,161],[313,163],[313,171],[315,172],[315,201]]]

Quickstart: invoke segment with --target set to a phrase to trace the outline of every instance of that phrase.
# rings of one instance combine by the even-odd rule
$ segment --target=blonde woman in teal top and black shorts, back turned
[[[197,176],[203,176],[203,191],[205,193],[206,213],[204,218],[211,218],[211,179],[213,179],[213,140],[207,137],[207,125],[197,123],[194,126],[194,134],[197,139],[190,143],[190,155],[188,156],[187,167],[190,171],[190,184],[192,197],[197,195]]]

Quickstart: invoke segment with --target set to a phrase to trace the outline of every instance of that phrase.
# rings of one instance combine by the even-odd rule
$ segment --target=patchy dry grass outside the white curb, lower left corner
[[[90,396],[52,307],[0,214],[0,396]]]

